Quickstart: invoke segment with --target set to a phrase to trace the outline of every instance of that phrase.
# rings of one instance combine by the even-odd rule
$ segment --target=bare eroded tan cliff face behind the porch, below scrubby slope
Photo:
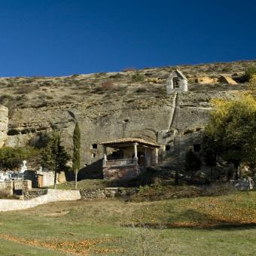
[[[75,120],[81,130],[81,166],[102,169],[101,142],[139,137],[162,145],[160,164],[182,169],[185,152],[200,145],[212,98],[233,98],[237,91],[172,93],[97,102],[72,102],[42,108],[17,108],[8,124],[5,145],[26,145],[40,132],[60,130],[62,143],[72,152]],[[6,111],[5,111],[6,114]],[[6,118],[6,115],[5,115]]]

